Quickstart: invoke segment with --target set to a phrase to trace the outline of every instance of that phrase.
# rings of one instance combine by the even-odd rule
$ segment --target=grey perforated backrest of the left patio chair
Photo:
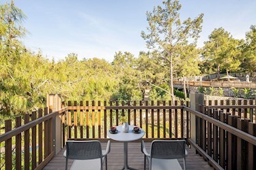
[[[78,160],[102,159],[100,141],[67,141],[66,158]]]

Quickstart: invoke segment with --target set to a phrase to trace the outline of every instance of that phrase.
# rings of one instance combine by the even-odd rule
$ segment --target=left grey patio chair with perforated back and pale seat
[[[107,154],[110,152],[110,141],[106,145],[106,150],[102,150],[100,141],[67,141],[66,151],[63,156],[66,157],[66,169],[68,169],[68,159],[74,159],[70,169],[100,169],[106,163]]]

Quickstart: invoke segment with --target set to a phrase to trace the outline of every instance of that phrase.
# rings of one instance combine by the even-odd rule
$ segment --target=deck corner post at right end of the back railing
[[[190,93],[190,108],[199,111],[199,105],[203,105],[203,96],[203,93]],[[195,114],[190,114],[190,139],[193,140],[195,143],[198,143],[197,123],[197,116],[195,116]],[[195,148],[191,148],[193,149],[193,151],[195,151]]]

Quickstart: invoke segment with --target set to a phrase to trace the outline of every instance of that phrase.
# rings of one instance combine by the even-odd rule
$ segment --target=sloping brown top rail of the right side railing
[[[239,129],[236,129],[233,126],[230,126],[230,125],[225,124],[224,122],[221,122],[219,120],[216,120],[210,116],[207,116],[207,115],[197,112],[193,109],[190,109],[189,107],[184,106],[184,109],[192,114],[195,114],[195,116],[198,116],[199,118],[202,118],[203,120],[207,120],[208,122],[211,122],[212,124],[214,124],[216,126],[219,126],[221,129],[224,129],[224,130],[228,131],[229,133],[232,133],[233,135],[236,135],[237,137],[240,137],[241,139],[244,139],[244,140],[248,141],[249,143],[252,143],[253,145],[256,146],[256,137],[255,136],[245,133],[244,131],[240,131]]]

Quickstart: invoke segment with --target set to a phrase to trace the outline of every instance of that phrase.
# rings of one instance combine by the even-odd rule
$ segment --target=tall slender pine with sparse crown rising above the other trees
[[[180,50],[188,44],[195,44],[201,32],[203,14],[192,20],[180,20],[180,2],[163,1],[163,7],[154,7],[153,12],[147,12],[147,32],[141,32],[146,40],[147,48],[156,50],[159,58],[169,65],[170,93],[174,104],[173,69],[180,62]]]

